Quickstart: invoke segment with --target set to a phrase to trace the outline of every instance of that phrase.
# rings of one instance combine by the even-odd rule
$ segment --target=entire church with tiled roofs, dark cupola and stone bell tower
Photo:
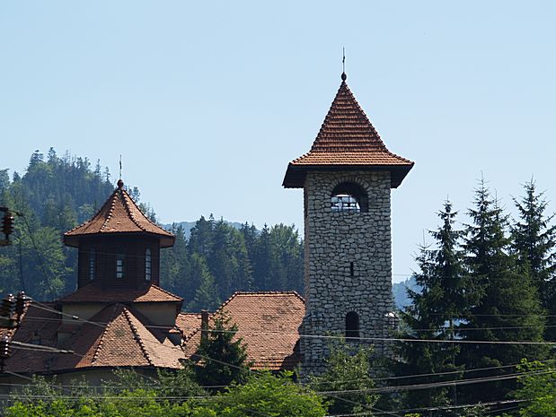
[[[326,336],[388,337],[393,322],[390,190],[413,162],[386,149],[341,75],[311,150],[287,166],[283,186],[304,189],[304,298],[237,292],[218,308],[238,326],[253,369],[322,372]],[[172,233],[151,222],[121,179],[91,220],[64,235],[78,251],[77,289],[26,305],[2,382],[32,374],[92,384],[115,368],[146,375],[179,369],[215,313],[185,313],[163,290],[160,252]],[[25,349],[24,349],[25,348]]]

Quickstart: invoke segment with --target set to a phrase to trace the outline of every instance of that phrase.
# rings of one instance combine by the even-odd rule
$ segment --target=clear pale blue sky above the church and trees
[[[101,160],[162,222],[302,227],[281,187],[348,83],[393,152],[393,274],[449,195],[484,175],[512,212],[556,195],[556,2],[27,1],[0,4],[0,169],[53,146]],[[556,210],[554,204],[550,210]],[[465,221],[464,215],[461,217]]]

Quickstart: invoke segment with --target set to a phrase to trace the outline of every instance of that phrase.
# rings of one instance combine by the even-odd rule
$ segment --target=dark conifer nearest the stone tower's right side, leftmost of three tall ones
[[[463,255],[459,248],[462,236],[454,229],[455,215],[452,204],[444,204],[438,213],[442,224],[430,231],[434,244],[421,247],[417,262],[420,272],[415,280],[420,291],[408,290],[412,304],[402,312],[408,326],[402,338],[422,340],[454,340],[457,323],[466,316],[467,306],[472,302],[469,278],[463,271]],[[402,363],[399,374],[432,374],[463,369],[455,364],[459,350],[453,343],[407,342],[399,346]],[[412,379],[412,383],[435,383],[461,378],[455,373],[448,376],[428,376]],[[402,379],[403,381],[403,379]],[[402,382],[403,383],[403,382]],[[406,396],[409,408],[433,407],[457,402],[455,388],[431,388],[426,391],[409,391]],[[435,415],[453,415],[443,412]]]

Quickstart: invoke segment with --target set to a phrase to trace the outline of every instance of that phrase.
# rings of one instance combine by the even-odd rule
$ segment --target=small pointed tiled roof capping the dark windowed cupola
[[[172,247],[175,239],[172,233],[151,222],[141,212],[124,189],[121,179],[118,181],[118,187],[90,221],[64,233],[64,243],[67,246],[78,247],[79,239],[84,236],[107,236],[116,233],[155,235],[160,239],[160,248]]]

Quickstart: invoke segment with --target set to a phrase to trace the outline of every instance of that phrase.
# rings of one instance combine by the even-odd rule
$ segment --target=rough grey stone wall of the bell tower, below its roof
[[[366,190],[367,213],[332,212],[331,194],[344,182]],[[360,337],[387,337],[392,311],[390,172],[313,171],[304,185],[305,300],[301,334],[343,335],[356,312]],[[350,263],[353,262],[353,276]],[[301,337],[302,372],[321,373],[329,340]],[[350,344],[375,344],[371,341]]]

